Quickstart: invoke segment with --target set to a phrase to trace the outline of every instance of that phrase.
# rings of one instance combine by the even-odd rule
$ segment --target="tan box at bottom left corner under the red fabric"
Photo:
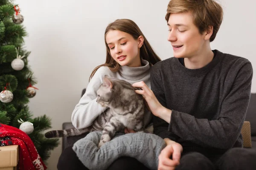
[[[17,170],[19,145],[0,147],[0,170]]]

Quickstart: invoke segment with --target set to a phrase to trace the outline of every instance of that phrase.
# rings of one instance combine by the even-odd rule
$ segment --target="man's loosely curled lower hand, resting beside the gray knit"
[[[171,141],[170,139],[164,139],[167,146],[161,151],[158,161],[157,170],[175,170],[180,164],[180,156],[183,151],[181,144]],[[172,156],[172,159],[170,157]]]

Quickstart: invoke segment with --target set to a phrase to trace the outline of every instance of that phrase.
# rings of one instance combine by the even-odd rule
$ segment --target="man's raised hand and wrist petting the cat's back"
[[[135,92],[137,94],[143,95],[146,102],[148,103],[148,107],[150,108],[151,112],[155,116],[159,116],[159,113],[161,112],[161,110],[164,109],[164,107],[160,104],[160,102],[158,102],[153,91],[151,91],[151,89],[148,88],[145,82],[136,82],[133,84],[133,86],[142,89],[142,90],[136,90]]]

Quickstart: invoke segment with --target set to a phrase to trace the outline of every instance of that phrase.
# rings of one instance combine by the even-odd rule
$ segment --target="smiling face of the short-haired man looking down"
[[[209,41],[206,31],[200,34],[190,12],[170,14],[168,28],[168,41],[172,44],[174,57],[191,58],[204,53]]]

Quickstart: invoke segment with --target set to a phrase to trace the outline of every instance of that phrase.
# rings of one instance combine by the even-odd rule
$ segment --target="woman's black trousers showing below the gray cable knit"
[[[67,147],[62,153],[57,164],[58,170],[89,170],[76,156],[72,147]],[[142,163],[131,157],[116,159],[108,170],[149,170]]]

